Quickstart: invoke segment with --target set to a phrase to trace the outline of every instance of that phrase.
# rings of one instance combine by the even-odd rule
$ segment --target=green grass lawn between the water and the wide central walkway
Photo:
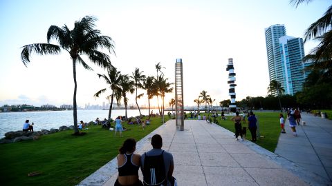
[[[165,117],[167,121],[168,117]],[[151,125],[127,125],[122,138],[100,125],[89,126],[84,136],[72,136],[73,130],[41,136],[38,141],[0,145],[1,185],[77,185],[81,180],[111,161],[126,138],[141,138],[161,125],[151,118]],[[114,125],[114,124],[112,124]],[[41,172],[39,176],[28,176]]]

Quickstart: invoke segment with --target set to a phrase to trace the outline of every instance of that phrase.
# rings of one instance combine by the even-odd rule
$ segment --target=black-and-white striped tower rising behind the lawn
[[[234,73],[234,67],[233,67],[233,59],[228,59],[228,65],[226,68],[226,71],[228,71],[228,84],[230,85],[230,89],[228,91],[230,95],[230,112],[236,112],[237,111],[237,103],[235,103],[236,93],[235,93],[235,73]]]

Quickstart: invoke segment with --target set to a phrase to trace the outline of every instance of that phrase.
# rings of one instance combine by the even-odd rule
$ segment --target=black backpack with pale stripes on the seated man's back
[[[144,185],[167,185],[167,176],[163,157],[164,151],[158,156],[147,156],[147,153],[144,154]]]

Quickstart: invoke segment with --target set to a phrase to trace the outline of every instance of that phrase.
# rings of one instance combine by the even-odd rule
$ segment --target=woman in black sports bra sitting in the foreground
[[[138,179],[138,169],[140,168],[140,155],[133,154],[136,149],[136,141],[128,138],[119,149],[118,159],[118,179],[114,186],[141,186]]]

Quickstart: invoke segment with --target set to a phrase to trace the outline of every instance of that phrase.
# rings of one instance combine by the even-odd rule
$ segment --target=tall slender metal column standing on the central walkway
[[[183,131],[184,113],[183,113],[183,70],[182,59],[176,59],[175,63],[175,113],[176,130]]]

